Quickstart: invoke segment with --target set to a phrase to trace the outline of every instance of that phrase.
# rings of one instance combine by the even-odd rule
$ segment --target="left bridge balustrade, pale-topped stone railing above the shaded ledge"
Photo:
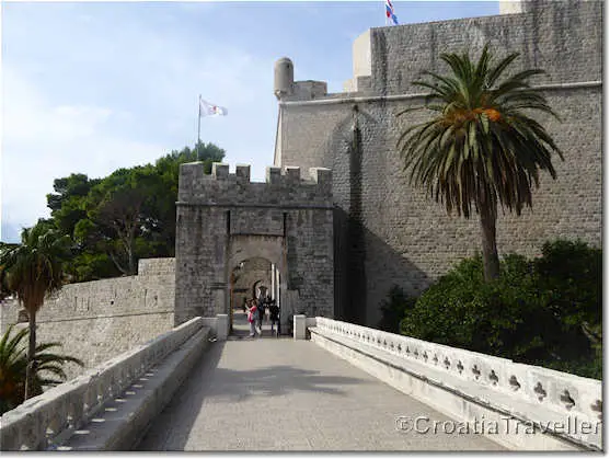
[[[104,403],[118,397],[203,326],[204,320],[195,318],[4,413],[0,417],[0,449],[39,450],[61,444]]]

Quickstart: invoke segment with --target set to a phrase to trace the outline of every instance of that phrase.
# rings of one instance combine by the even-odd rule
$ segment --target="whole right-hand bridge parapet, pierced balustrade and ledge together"
[[[509,448],[601,449],[601,381],[325,318],[310,332],[471,432],[479,422],[482,434]]]

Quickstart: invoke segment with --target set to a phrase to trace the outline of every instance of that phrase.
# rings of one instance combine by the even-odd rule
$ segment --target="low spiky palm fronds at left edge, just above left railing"
[[[21,343],[28,330],[22,329],[11,336],[13,326],[9,326],[0,338],[0,414],[14,409],[25,400],[27,355]],[[48,353],[48,349],[58,346],[61,344],[43,343],[36,346],[34,359],[37,365],[33,376],[32,395],[43,393],[44,386],[55,386],[65,381],[67,377],[64,364],[71,362],[83,366],[78,358]]]

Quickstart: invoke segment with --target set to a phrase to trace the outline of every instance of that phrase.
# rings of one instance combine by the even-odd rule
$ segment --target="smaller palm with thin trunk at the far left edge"
[[[38,222],[21,233],[21,244],[0,248],[0,266],[11,291],[27,311],[30,341],[25,399],[33,397],[36,352],[36,313],[45,297],[59,289],[64,280],[62,263],[69,253],[70,238]]]

